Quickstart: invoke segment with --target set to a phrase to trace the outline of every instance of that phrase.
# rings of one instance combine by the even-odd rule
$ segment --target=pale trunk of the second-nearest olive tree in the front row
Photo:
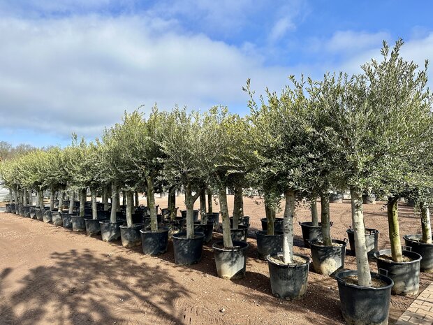
[[[283,237],[283,261],[293,261],[293,215],[295,214],[295,192],[286,191],[286,205],[284,207],[284,237]]]

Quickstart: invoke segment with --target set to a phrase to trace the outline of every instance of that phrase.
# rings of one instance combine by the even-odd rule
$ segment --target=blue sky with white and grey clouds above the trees
[[[432,12],[427,0],[0,0],[0,140],[92,139],[142,104],[245,114],[247,78],[260,94],[291,74],[356,73],[383,40],[403,38],[423,64]]]

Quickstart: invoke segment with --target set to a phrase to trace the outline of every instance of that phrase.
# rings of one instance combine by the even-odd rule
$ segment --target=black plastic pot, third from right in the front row
[[[232,248],[223,247],[223,241],[212,245],[215,254],[215,265],[217,273],[223,279],[242,279],[245,277],[247,266],[248,244],[240,241],[233,241]]]

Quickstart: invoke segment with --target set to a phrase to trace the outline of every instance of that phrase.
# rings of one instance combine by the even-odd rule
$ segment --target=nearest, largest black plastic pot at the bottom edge
[[[386,282],[386,286],[374,288],[346,283],[346,277],[358,275],[356,270],[344,270],[335,275],[346,324],[388,324],[391,287],[394,282],[385,275],[371,274],[372,278]]]

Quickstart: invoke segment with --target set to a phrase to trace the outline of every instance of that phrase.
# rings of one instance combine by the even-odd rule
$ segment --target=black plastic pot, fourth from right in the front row
[[[186,231],[181,231],[172,236],[175,263],[191,265],[201,259],[204,233],[195,232],[194,238],[186,238]]]

